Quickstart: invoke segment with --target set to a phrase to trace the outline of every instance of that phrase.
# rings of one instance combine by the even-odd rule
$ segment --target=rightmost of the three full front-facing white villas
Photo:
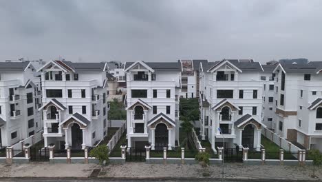
[[[200,134],[213,150],[223,139],[228,148],[260,149],[266,127],[261,123],[263,71],[253,60],[200,64]]]

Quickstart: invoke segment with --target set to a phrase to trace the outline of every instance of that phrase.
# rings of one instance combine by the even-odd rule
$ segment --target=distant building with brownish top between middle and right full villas
[[[199,97],[199,68],[200,63],[208,63],[208,60],[192,59],[192,60],[178,60],[181,64],[181,90],[180,97],[194,98]]]

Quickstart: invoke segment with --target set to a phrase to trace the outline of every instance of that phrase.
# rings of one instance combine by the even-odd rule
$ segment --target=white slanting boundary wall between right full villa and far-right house
[[[283,148],[288,154],[292,154],[297,159],[297,152],[301,150],[293,143],[290,143],[290,141],[287,141],[286,139],[283,139],[281,136],[277,135],[276,133],[272,132],[271,130],[268,130],[267,128],[264,128],[264,136],[266,138],[270,139],[270,141],[274,142],[276,145],[279,145],[279,148]]]

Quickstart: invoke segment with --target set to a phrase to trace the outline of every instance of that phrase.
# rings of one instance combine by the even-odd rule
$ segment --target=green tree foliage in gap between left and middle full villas
[[[113,99],[111,103],[109,103],[109,120],[126,120],[127,119],[127,111],[122,102],[119,102],[118,99]]]

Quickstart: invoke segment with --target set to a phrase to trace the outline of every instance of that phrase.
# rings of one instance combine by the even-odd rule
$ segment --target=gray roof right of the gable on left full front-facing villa
[[[71,61],[62,61],[75,72],[103,72],[105,63],[73,63]]]

